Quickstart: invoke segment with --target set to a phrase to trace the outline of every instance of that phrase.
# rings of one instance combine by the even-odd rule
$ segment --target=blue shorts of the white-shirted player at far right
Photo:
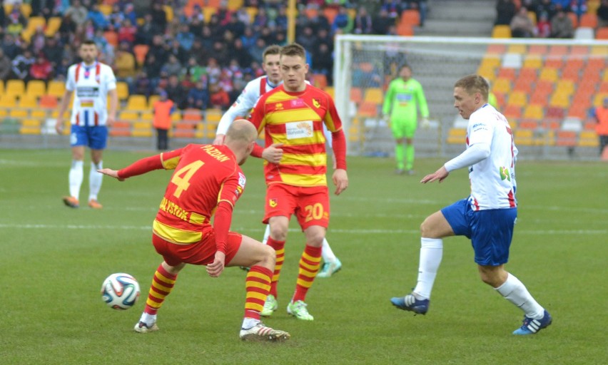
[[[455,235],[470,238],[477,264],[498,266],[509,261],[517,208],[474,211],[463,199],[441,212]]]

